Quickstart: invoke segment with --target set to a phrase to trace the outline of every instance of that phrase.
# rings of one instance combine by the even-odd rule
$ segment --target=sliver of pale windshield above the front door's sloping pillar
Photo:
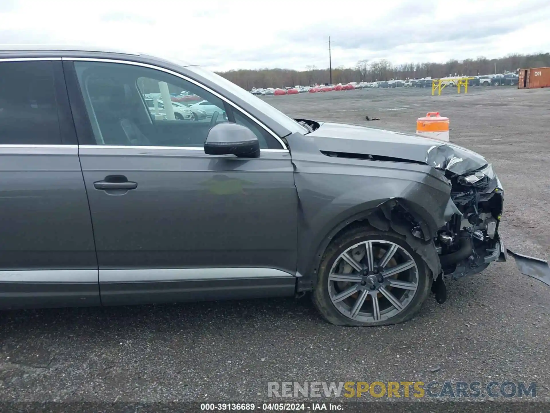
[[[208,80],[212,80],[216,84],[222,86],[222,88],[238,96],[240,99],[244,100],[246,103],[256,107],[257,109],[265,113],[267,116],[272,118],[274,121],[280,123],[282,126],[289,129],[289,131],[300,132],[303,134],[310,132],[308,128],[302,126],[300,123],[296,122],[293,118],[285,115],[283,112],[279,111],[278,109],[274,108],[270,104],[261,100],[259,97],[252,95],[250,92],[244,90],[243,88],[240,88],[239,86],[235,85],[233,82],[227,80],[226,78],[223,78],[220,75],[210,72],[210,70],[206,70],[205,68],[202,68],[200,66],[188,66],[186,67],[186,69]]]

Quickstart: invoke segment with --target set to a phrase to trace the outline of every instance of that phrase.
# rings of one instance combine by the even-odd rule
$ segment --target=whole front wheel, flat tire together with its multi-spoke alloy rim
[[[396,252],[393,257],[397,258],[392,257],[387,262],[386,267],[384,267],[385,271],[390,271],[392,268],[397,268],[399,265],[410,265],[410,260],[414,262],[414,268],[400,271],[399,274],[389,276],[388,278],[380,277],[383,272],[375,275],[375,279],[379,277],[379,280],[383,279],[384,283],[400,282],[401,284],[406,284],[408,285],[406,289],[386,284],[375,287],[376,289],[374,291],[369,290],[369,288],[373,288],[372,285],[368,285],[373,282],[372,271],[368,273],[370,274],[368,276],[367,274],[361,276],[358,273],[349,274],[345,272],[341,274],[335,274],[335,272],[333,272],[331,274],[331,271],[335,271],[335,268],[342,268],[339,267],[339,265],[343,262],[341,255],[344,252],[354,247],[353,251],[355,254],[355,252],[360,249],[360,246],[367,241],[370,241],[369,244],[373,251],[372,256],[374,256],[372,262],[375,263],[375,265],[382,264],[383,254],[389,251],[390,248],[394,248],[393,246],[396,246]],[[359,247],[357,247],[357,245],[359,245]],[[387,249],[381,249],[379,246],[387,246]],[[378,253],[376,253],[376,251],[378,251]],[[382,258],[380,257],[381,255]],[[403,259],[403,262],[398,263],[401,259]],[[366,254],[361,260],[366,260]],[[344,263],[344,265],[346,264],[347,263]],[[364,265],[364,267],[366,266]],[[356,273],[356,270],[352,271]],[[330,278],[329,275],[331,276]],[[361,281],[360,284],[356,284],[356,281],[335,281],[333,279],[334,277],[345,277],[346,275],[361,277],[367,281]],[[401,278],[408,276],[410,277],[409,281],[414,281],[408,282],[393,278],[398,276]],[[430,293],[432,281],[431,271],[428,269],[423,259],[412,250],[408,243],[406,243],[403,236],[393,231],[379,231],[372,227],[356,227],[344,233],[344,235],[335,238],[327,247],[318,269],[317,285],[315,289],[313,289],[312,299],[322,317],[331,324],[348,327],[398,324],[411,319],[420,310],[422,303],[426,301]],[[340,283],[343,283],[341,289],[339,289],[339,286],[342,285]],[[416,285],[416,289],[412,293],[410,293],[410,285]],[[357,290],[353,290],[354,288]],[[378,288],[380,288],[380,290],[378,290]],[[382,289],[384,289],[383,294]],[[349,291],[356,292],[351,295],[346,295]],[[397,304],[403,308],[399,309],[397,306],[392,305],[389,299],[386,298],[388,291],[393,299],[397,300]],[[340,295],[340,297],[344,295],[346,298],[340,300],[340,298],[337,297],[338,295]],[[361,304],[357,305],[361,298],[363,298],[363,301],[361,301]],[[333,300],[340,301],[335,303]],[[377,303],[376,307],[378,308],[378,317],[375,316],[375,301]],[[356,307],[359,308],[355,311],[356,316],[352,318],[350,313],[353,312]]]

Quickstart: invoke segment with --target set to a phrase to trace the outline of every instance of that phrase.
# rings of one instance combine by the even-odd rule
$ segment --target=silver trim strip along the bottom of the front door
[[[99,282],[162,282],[295,278],[275,268],[157,268],[99,270]]]

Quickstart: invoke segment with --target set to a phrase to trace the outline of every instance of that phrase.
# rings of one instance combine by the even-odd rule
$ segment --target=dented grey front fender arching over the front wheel
[[[433,167],[324,155],[315,160],[300,159],[295,155],[294,182],[299,198],[297,268],[303,275],[299,289],[310,289],[315,282],[324,249],[334,235],[391,200],[414,216],[422,227],[423,241],[431,241],[454,213],[448,207],[450,185]]]

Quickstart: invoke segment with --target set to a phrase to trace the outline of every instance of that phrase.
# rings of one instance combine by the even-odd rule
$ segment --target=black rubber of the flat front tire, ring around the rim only
[[[341,253],[346,251],[346,249],[354,246],[355,244],[362,241],[369,240],[383,240],[390,241],[398,244],[400,247],[404,248],[406,252],[410,254],[412,259],[415,260],[416,266],[418,268],[418,286],[415,292],[415,296],[412,298],[408,306],[401,311],[396,316],[389,318],[387,320],[382,320],[377,323],[364,323],[359,322],[353,319],[350,319],[334,306],[332,303],[331,297],[328,294],[328,274],[331,271],[332,265],[335,260],[340,256]],[[331,323],[338,325],[350,325],[350,326],[376,326],[376,325],[391,325],[404,322],[408,320],[419,311],[422,303],[426,300],[428,292],[432,284],[432,278],[430,271],[427,269],[426,264],[423,259],[415,253],[408,243],[404,240],[403,237],[393,234],[391,232],[383,231],[362,231],[355,232],[350,234],[349,237],[345,237],[344,240],[335,241],[333,247],[327,248],[328,254],[323,257],[321,265],[319,268],[319,276],[317,280],[317,286],[313,291],[313,300],[315,301],[318,309],[321,311],[323,316]]]

